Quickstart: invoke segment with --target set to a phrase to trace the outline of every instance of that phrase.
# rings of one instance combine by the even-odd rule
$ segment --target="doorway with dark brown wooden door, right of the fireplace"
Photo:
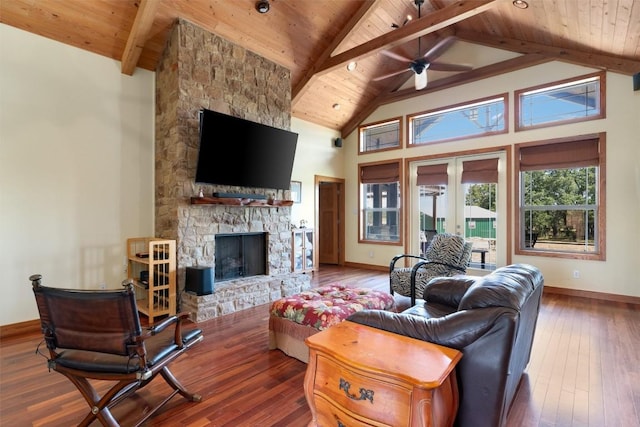
[[[344,179],[315,176],[318,263],[344,265]]]

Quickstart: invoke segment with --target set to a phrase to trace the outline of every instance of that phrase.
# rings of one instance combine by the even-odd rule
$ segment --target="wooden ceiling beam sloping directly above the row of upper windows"
[[[416,96],[422,96],[426,93],[448,89],[454,86],[471,83],[476,80],[486,79],[500,74],[510,73],[512,71],[532,67],[534,65],[549,62],[551,60],[551,58],[544,55],[523,55],[517,58],[507,59],[496,64],[480,67],[475,70],[467,71],[465,73],[456,74],[451,77],[445,77],[443,79],[429,82],[429,85],[422,90],[407,88],[394,92],[381,93],[375,100],[367,105],[367,108],[358,111],[356,115],[351,117],[351,120],[349,120],[349,122],[341,129],[342,137],[346,138],[351,132],[356,130],[358,125],[362,123],[371,113],[376,110],[376,108],[381,105],[414,98]]]

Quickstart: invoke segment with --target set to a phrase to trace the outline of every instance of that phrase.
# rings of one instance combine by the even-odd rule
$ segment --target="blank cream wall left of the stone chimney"
[[[38,318],[29,276],[119,287],[153,234],[154,73],[0,24],[0,325]]]

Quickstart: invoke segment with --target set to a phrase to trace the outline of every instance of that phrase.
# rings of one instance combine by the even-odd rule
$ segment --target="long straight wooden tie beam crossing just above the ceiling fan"
[[[504,0],[462,0],[451,4],[420,19],[414,20],[411,25],[405,25],[328,58],[324,64],[319,67],[317,73],[328,73],[351,61],[357,61],[363,57],[378,53],[381,50],[390,49],[426,34],[442,30],[457,22],[486,12],[503,1]]]

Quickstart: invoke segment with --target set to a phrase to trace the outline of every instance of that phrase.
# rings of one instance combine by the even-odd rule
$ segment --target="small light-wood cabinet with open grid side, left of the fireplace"
[[[153,323],[176,314],[176,241],[127,239],[127,277],[133,279],[138,311]]]

